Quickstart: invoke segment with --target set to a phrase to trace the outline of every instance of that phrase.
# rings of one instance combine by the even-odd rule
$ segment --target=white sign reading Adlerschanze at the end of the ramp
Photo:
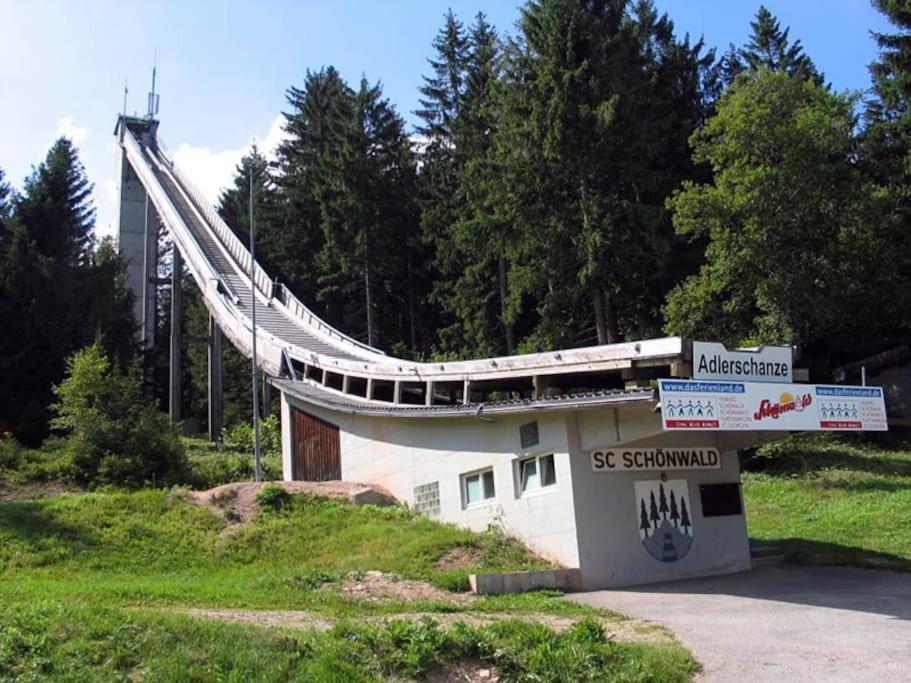
[[[762,346],[756,351],[729,351],[724,344],[693,342],[693,379],[735,382],[793,382],[790,346]]]

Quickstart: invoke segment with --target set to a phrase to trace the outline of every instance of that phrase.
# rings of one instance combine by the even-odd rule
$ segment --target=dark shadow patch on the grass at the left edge
[[[30,550],[72,555],[99,545],[98,537],[78,526],[67,524],[39,502],[27,501],[0,505],[0,534],[7,543],[24,542]],[[0,558],[2,558],[0,553]],[[0,559],[2,562],[2,559]]]

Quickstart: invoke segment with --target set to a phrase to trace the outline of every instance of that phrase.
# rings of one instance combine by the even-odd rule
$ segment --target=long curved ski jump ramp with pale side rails
[[[276,381],[300,383],[311,396],[361,410],[439,414],[490,404],[490,396],[523,396],[550,404],[564,390],[585,390],[586,395],[575,400],[598,402],[595,394],[624,388],[639,374],[637,369],[661,368],[667,376],[684,360],[685,344],[677,337],[481,360],[430,363],[388,356],[326,323],[258,263],[251,264],[249,250],[176,166],[157,139],[156,127],[147,119],[120,118],[122,183],[141,185],[214,321],[248,357],[255,297],[259,364]],[[121,216],[123,242],[123,210]],[[137,295],[142,298],[139,291]],[[647,370],[645,374],[657,376]],[[605,393],[604,398],[616,399],[614,391]]]

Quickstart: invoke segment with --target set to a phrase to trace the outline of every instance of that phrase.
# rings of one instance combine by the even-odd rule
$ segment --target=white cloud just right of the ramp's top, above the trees
[[[237,149],[213,150],[209,147],[180,145],[173,152],[174,162],[196,183],[206,198],[215,204],[222,190],[231,184],[237,165],[250,151],[254,141],[266,158],[275,158],[279,144],[287,137],[284,122],[284,116],[277,116],[264,137],[251,137],[246,145]]]

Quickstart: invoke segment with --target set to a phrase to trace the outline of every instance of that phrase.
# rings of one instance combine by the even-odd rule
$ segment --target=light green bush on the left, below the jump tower
[[[177,428],[143,395],[134,374],[111,365],[98,342],[68,360],[54,393],[51,427],[67,437],[78,482],[135,487],[180,480],[185,460]]]

